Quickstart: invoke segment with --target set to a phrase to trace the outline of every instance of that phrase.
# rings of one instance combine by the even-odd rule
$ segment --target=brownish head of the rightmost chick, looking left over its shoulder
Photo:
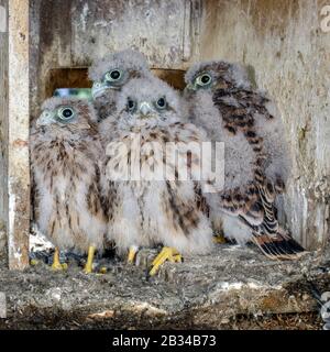
[[[198,63],[190,67],[185,76],[188,91],[230,89],[231,87],[249,89],[251,82],[248,72],[239,64],[223,61]]]

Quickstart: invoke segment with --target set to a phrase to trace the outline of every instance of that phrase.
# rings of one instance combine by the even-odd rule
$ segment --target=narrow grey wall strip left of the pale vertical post
[[[0,258],[6,254],[6,230],[8,218],[7,197],[7,139],[8,139],[8,1],[0,0],[0,7],[6,11],[6,23],[3,12],[0,21]]]

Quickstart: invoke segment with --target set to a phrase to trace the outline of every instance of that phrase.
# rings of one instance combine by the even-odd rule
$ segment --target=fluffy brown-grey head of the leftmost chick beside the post
[[[91,103],[78,98],[51,98],[44,101],[35,122],[37,129],[57,134],[82,132],[95,128],[97,117]]]

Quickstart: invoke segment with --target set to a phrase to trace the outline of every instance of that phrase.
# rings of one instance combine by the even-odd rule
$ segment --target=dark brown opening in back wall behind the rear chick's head
[[[183,90],[185,87],[185,70],[153,68],[152,72],[158,78],[165,80],[175,89]],[[52,68],[48,72],[45,87],[45,96],[50,98],[58,88],[90,88],[88,67]]]

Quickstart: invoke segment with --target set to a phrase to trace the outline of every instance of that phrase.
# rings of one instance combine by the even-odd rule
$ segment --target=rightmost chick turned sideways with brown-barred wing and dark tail
[[[188,120],[224,143],[224,187],[207,200],[212,221],[226,238],[252,241],[272,260],[300,257],[305,250],[277,217],[292,162],[275,103],[235,63],[197,63],[185,81]]]

